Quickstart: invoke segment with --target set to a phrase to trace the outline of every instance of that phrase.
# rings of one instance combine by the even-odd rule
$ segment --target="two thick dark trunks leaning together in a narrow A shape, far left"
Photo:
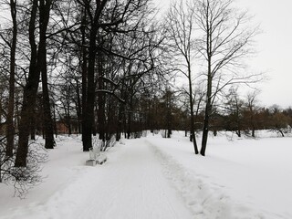
[[[24,89],[23,106],[21,110],[21,120],[19,122],[19,142],[16,153],[16,167],[26,166],[26,155],[28,150],[28,137],[34,109],[36,106],[36,93],[38,89],[40,75],[43,81],[43,105],[44,116],[46,118],[46,148],[54,148],[54,134],[50,106],[47,90],[47,25],[52,0],[34,0],[30,7],[30,20],[28,26],[30,45],[29,73]],[[37,12],[39,19],[37,18]],[[38,24],[38,45],[36,44],[36,21]],[[38,47],[37,47],[38,46]],[[50,117],[50,119],[49,119]]]

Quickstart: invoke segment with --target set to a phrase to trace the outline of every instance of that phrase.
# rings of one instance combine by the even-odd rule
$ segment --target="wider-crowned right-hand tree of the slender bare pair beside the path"
[[[255,75],[246,75],[243,58],[253,52],[257,26],[250,26],[246,11],[233,7],[233,0],[198,0],[195,21],[198,27],[196,50],[203,59],[206,77],[206,103],[200,153],[206,151],[209,122],[214,99],[225,87],[235,83],[255,82]]]

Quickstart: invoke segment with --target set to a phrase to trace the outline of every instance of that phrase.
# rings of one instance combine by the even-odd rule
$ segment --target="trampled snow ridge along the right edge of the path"
[[[202,176],[187,171],[170,155],[163,153],[154,144],[152,150],[161,160],[164,175],[183,197],[195,219],[264,219],[264,214],[252,212],[251,209],[232,203],[228,195],[218,188],[210,188],[203,182]]]

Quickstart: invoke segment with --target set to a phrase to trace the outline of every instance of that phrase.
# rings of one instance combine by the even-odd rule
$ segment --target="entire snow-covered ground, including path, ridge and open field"
[[[292,218],[292,138],[261,135],[210,135],[202,157],[183,132],[149,133],[117,143],[95,167],[79,136],[60,136],[26,199],[0,184],[0,218]]]

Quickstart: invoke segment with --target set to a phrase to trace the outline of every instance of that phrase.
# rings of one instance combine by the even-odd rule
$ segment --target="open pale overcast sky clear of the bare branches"
[[[159,0],[167,7],[171,0]],[[250,68],[266,72],[267,80],[258,85],[261,105],[292,107],[292,0],[235,0],[239,8],[248,9],[263,33],[257,36],[257,55]]]

